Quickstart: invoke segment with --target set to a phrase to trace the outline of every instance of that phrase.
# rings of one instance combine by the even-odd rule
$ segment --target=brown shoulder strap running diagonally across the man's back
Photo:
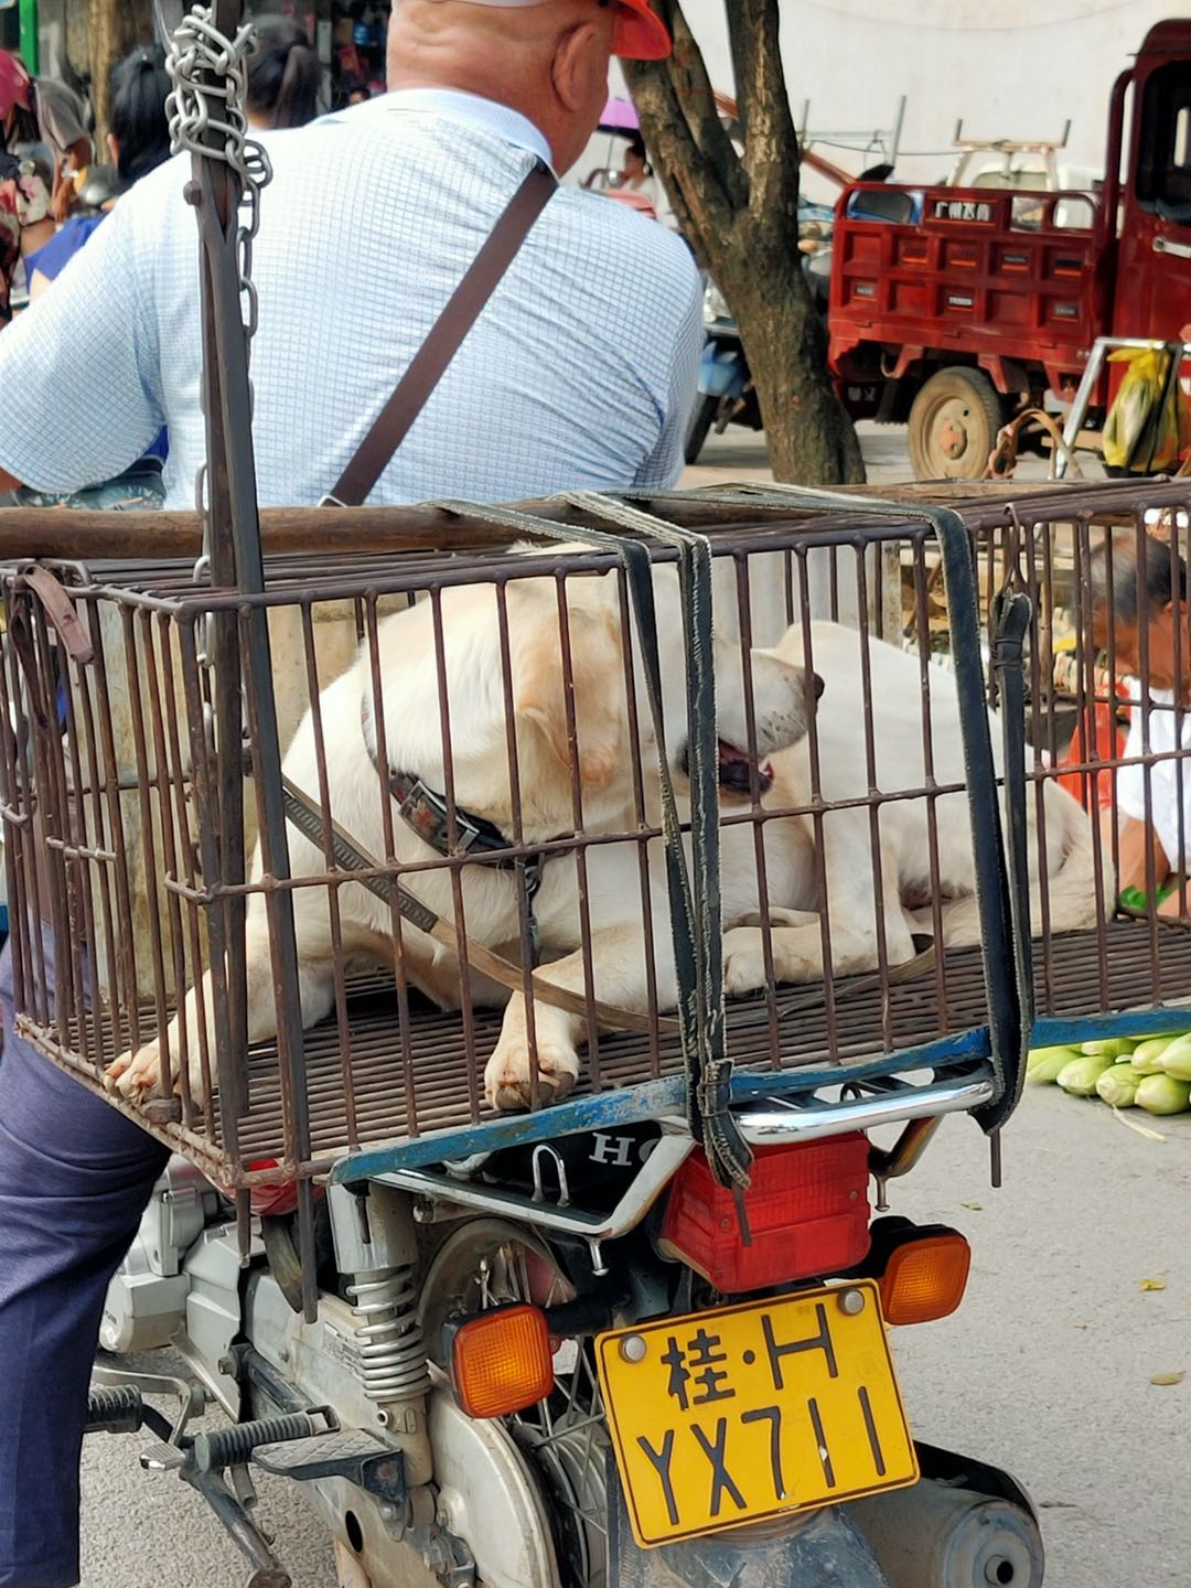
[[[434,322],[430,335],[410,360],[392,397],[340,475],[338,484],[319,507],[360,507],[368,500],[556,189],[554,173],[542,160],[535,160],[532,172],[492,229],[492,235]]]

